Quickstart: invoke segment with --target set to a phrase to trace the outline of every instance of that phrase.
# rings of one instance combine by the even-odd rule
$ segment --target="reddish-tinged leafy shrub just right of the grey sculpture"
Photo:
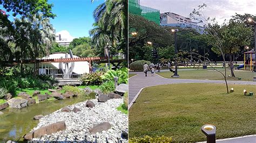
[[[82,82],[83,85],[100,85],[102,83],[102,77],[100,77],[102,74],[102,72],[85,73],[80,76],[79,81]]]

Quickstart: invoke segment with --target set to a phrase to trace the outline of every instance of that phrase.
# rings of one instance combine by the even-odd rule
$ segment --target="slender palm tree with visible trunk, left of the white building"
[[[34,76],[37,74],[36,58],[39,54],[49,54],[50,47],[55,40],[55,30],[49,18],[44,18],[41,13],[28,18],[30,24],[30,42],[33,46]]]

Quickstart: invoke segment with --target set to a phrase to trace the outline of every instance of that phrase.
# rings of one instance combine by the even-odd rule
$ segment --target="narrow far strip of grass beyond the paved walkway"
[[[224,73],[224,69],[220,69]],[[164,71],[157,73],[160,76],[166,78],[172,78],[170,71]],[[197,80],[224,80],[223,76],[216,70],[208,69],[195,69],[195,70],[180,70],[178,71],[179,78],[182,79],[197,79]],[[234,74],[236,77],[228,77],[231,75],[230,70],[227,70],[227,80],[238,81],[238,77],[241,77],[241,81],[252,81],[254,73],[252,71],[235,70]],[[255,74],[256,75],[256,74]]]

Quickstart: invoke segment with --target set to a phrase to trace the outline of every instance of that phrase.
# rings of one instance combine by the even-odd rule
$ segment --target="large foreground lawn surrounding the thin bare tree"
[[[145,88],[129,110],[129,137],[165,135],[174,142],[205,141],[204,124],[217,127],[217,139],[256,134],[255,85],[183,83]]]

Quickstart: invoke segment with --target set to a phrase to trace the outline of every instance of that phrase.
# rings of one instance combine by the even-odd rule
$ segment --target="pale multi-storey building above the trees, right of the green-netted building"
[[[199,33],[204,33],[205,27],[198,25],[199,23],[192,22],[190,18],[180,16],[173,12],[165,12],[160,14],[161,26],[172,26],[181,28],[194,28]]]

